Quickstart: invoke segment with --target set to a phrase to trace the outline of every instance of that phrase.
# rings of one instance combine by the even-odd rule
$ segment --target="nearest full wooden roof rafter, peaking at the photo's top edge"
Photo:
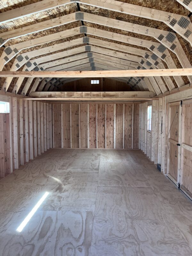
[[[139,5],[123,3],[115,0],[80,0],[80,1],[68,1],[68,0],[56,0],[51,2],[49,0],[43,0],[34,4],[29,4],[20,8],[16,8],[0,14],[0,24],[6,21],[18,19],[30,14],[42,12],[48,9],[56,8],[62,5],[79,3],[87,4],[102,9],[107,9],[115,12],[122,12],[129,15],[134,15],[151,20],[158,20],[164,22],[180,36],[186,39],[190,44],[192,42],[192,35],[186,36],[187,30],[192,31],[192,24],[187,16],[180,14],[174,14],[171,12],[159,11]],[[185,26],[183,26],[185,24]],[[186,26],[187,25],[187,26]]]

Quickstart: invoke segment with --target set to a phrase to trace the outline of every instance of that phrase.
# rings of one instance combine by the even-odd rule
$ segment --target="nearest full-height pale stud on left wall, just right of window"
[[[14,143],[14,168],[19,168],[18,149],[18,111],[17,98],[13,97],[13,143]]]

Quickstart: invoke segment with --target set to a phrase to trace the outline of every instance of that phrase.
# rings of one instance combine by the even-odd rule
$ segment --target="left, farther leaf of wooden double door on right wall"
[[[178,185],[180,102],[169,104],[168,120],[167,176]]]

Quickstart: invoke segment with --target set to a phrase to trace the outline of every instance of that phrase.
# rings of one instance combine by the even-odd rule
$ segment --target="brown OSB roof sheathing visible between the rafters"
[[[20,0],[5,1],[5,0],[0,0],[0,8],[1,8],[0,12],[5,12],[5,11],[8,11],[8,10],[15,9],[17,7],[25,6],[25,5],[36,3],[36,2],[39,2],[39,1],[38,0],[27,0],[27,1],[20,1]],[[182,6],[177,1],[174,1],[174,0],[169,0],[169,1],[161,0],[160,3],[158,3],[158,4],[157,4],[156,0],[137,0],[137,1],[136,0],[121,0],[120,2],[135,4],[135,5],[148,7],[148,8],[153,8],[153,9],[156,9],[156,10],[162,10],[162,11],[166,11],[166,12],[177,13],[177,14],[181,14],[181,15],[185,15],[185,16],[188,16],[189,13],[190,13],[184,6]],[[174,32],[166,24],[164,24],[163,22],[160,22],[160,21],[140,18],[140,17],[136,17],[136,16],[133,16],[133,15],[127,15],[127,14],[119,13],[119,12],[113,12],[113,11],[109,11],[109,10],[105,10],[105,9],[101,9],[101,8],[97,8],[97,7],[93,7],[93,6],[89,6],[89,5],[85,5],[85,4],[81,4],[81,3],[79,5],[80,5],[80,10],[82,12],[89,12],[89,13],[92,13],[92,14],[112,18],[112,19],[115,19],[115,20],[123,20],[123,21],[131,22],[131,23],[139,24],[139,25],[142,25],[142,26],[148,26],[148,27],[151,27],[151,28],[158,28],[158,29],[163,29],[163,30]],[[77,11],[78,11],[78,9],[77,9],[76,3],[72,3],[72,4],[68,4],[66,6],[60,6],[60,7],[55,8],[55,9],[50,9],[50,10],[47,10],[47,11],[44,11],[44,12],[39,12],[39,13],[36,13],[36,14],[33,14],[33,15],[28,15],[27,17],[23,17],[23,18],[20,18],[20,19],[17,19],[17,20],[13,20],[13,21],[1,24],[0,25],[0,29],[1,29],[0,33],[3,33],[3,32],[8,31],[8,30],[15,29],[15,28],[21,28],[21,27],[24,27],[24,26],[35,24],[35,23],[38,23],[38,22],[41,22],[41,21],[44,21],[44,20],[49,20],[49,19],[53,19],[53,18],[60,17],[60,16],[63,16],[63,15],[67,15],[69,13],[73,13],[73,12],[77,12]],[[97,24],[94,24],[94,23],[91,23],[91,22],[84,22],[84,25],[89,26],[89,27],[94,27],[94,28],[99,28],[99,29],[111,31],[111,32],[115,32],[115,33],[119,33],[119,34],[123,34],[123,35],[127,35],[127,36],[146,39],[148,41],[157,42],[155,40],[155,38],[150,37],[150,36],[144,36],[144,35],[140,35],[140,34],[136,34],[136,33],[132,33],[132,32],[127,32],[127,31],[124,31],[124,30],[109,28],[109,27],[97,25]],[[62,26],[59,26],[59,27],[55,27],[55,28],[44,30],[44,31],[40,31],[38,33],[33,33],[33,34],[28,35],[28,36],[21,36],[21,37],[18,37],[18,38],[15,38],[15,39],[12,39],[12,40],[8,41],[8,43],[6,43],[5,46],[20,43],[20,42],[24,42],[26,40],[31,40],[31,39],[38,38],[38,37],[45,36],[45,35],[54,34],[56,32],[67,30],[67,29],[70,29],[70,28],[75,28],[75,27],[78,27],[78,26],[82,26],[81,21],[75,21],[75,22],[72,22],[72,23],[69,23],[69,24],[66,24],[66,25],[62,25]],[[84,36],[84,35],[81,34],[81,35],[77,35],[77,36],[73,36],[73,37],[53,41],[53,42],[48,43],[48,44],[38,45],[38,46],[29,48],[29,49],[25,49],[25,50],[21,51],[21,53],[28,52],[28,51],[33,51],[33,50],[36,50],[36,49],[41,49],[41,48],[44,48],[44,47],[47,47],[47,46],[50,46],[50,45],[59,44],[59,43],[66,42],[68,40],[73,40],[73,39],[76,39],[76,38],[79,38],[79,37],[82,37],[82,36]],[[94,37],[94,38],[98,38],[98,39],[102,39],[102,40],[106,40],[106,41],[109,41],[109,42],[117,43],[116,41],[113,41],[113,40],[108,40],[108,39],[105,39],[105,38],[99,38],[99,37],[91,36],[91,35],[89,35],[89,36]],[[184,40],[178,34],[177,34],[177,37],[180,41],[180,44],[183,47],[184,52],[187,55],[189,61],[192,63],[192,57],[191,57],[192,56],[191,55],[192,47],[190,46],[190,44],[186,40]],[[125,43],[121,43],[121,42],[118,42],[118,43],[122,44],[122,45],[127,45],[127,46],[130,46],[130,47],[133,47],[133,45],[130,45],[130,44],[125,44]],[[144,48],[144,47],[135,46],[135,45],[134,45],[134,47],[138,48],[138,49],[146,50],[146,48]],[[1,47],[0,54],[2,54],[3,50],[4,50],[4,47]],[[66,49],[64,49],[64,50],[66,50]],[[174,53],[172,53],[171,51],[169,51],[169,52],[172,56],[172,59],[174,60],[174,62],[176,64],[177,68],[180,68],[181,65],[180,65],[180,62],[177,59],[176,55]],[[53,54],[53,53],[56,53],[56,52],[52,52],[51,54]],[[38,57],[36,57],[36,58],[38,58]],[[7,65],[5,65],[3,70],[4,71],[10,70],[13,61],[14,61],[14,58]],[[166,65],[165,65],[165,67],[166,67]],[[183,77],[183,79],[184,79],[185,83],[187,84],[188,83],[187,77]],[[4,78],[0,78],[0,87],[3,84],[4,80],[5,80]],[[173,80],[173,78],[172,78],[172,80]],[[17,79],[15,79],[15,78],[12,80],[9,91],[12,91],[12,88],[14,87],[14,84],[15,84],[16,81],[17,81]]]

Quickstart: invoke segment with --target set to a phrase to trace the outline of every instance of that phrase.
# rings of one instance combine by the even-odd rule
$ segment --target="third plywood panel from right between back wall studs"
[[[116,104],[116,148],[123,148],[123,104]]]

